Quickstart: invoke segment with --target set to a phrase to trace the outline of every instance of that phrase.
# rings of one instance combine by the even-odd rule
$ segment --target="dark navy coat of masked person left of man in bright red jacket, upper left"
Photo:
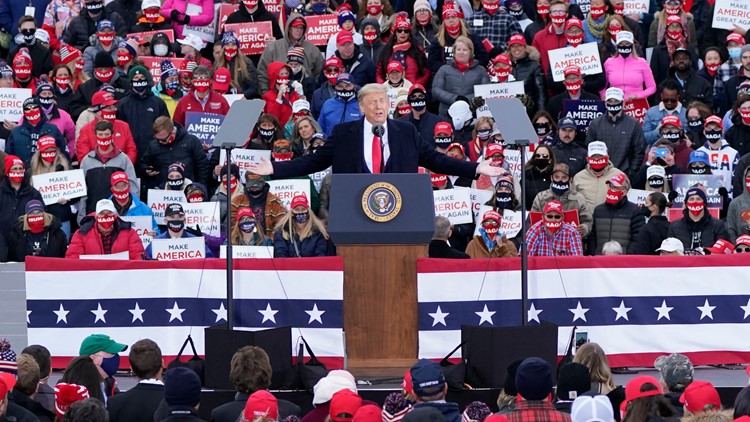
[[[150,79],[150,76],[147,78]],[[169,117],[167,105],[151,90],[146,91],[144,95],[131,91],[117,104],[117,118],[130,124],[138,159],[143,156],[143,152],[154,139],[152,126],[160,116]]]

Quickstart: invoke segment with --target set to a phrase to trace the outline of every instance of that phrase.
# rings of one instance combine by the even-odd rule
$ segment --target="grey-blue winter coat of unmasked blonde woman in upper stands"
[[[440,102],[440,116],[448,116],[448,108],[459,96],[472,100],[474,85],[488,83],[487,71],[476,60],[472,60],[466,72],[460,72],[454,62],[442,66],[432,81],[432,96]]]

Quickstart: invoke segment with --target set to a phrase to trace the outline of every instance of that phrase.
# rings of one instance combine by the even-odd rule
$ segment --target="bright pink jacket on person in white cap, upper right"
[[[651,67],[645,59],[640,57],[623,59],[618,55],[607,59],[604,62],[604,73],[609,86],[616,86],[623,90],[626,101],[631,95],[646,98],[656,92],[656,82]],[[604,91],[602,91],[603,97]]]

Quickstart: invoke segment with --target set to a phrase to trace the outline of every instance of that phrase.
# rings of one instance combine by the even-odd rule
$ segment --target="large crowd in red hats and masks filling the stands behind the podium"
[[[185,226],[179,204],[162,204],[171,211],[154,219],[154,239],[202,237],[205,256],[230,242],[273,246],[277,257],[334,254],[330,176],[314,184],[303,174],[309,197],[283,202],[266,183],[273,169],[226,168],[187,119],[260,99],[263,112],[248,122],[242,147],[295,161],[325,148],[344,123],[369,128],[363,96],[383,91],[389,118],[413,125],[420,147],[501,169],[471,178],[420,161],[435,190],[492,193],[492,209],[473,223],[438,224],[436,248],[452,248],[442,255],[704,254],[750,245],[750,34],[714,27],[713,0],[654,0],[643,13],[623,0],[272,3],[0,1],[0,90],[31,93],[20,119],[0,126],[0,261],[151,258],[122,217],[154,216],[146,204],[153,189],[181,191],[184,203],[218,202],[222,221],[232,218],[210,236]],[[231,13],[219,13],[224,6]],[[308,20],[323,15],[337,18],[339,32],[315,45],[307,34],[320,28]],[[241,33],[224,27],[257,22],[271,30],[252,54]],[[599,73],[557,69],[551,51],[584,44],[596,47]],[[474,91],[510,82],[522,82],[517,97],[537,134],[523,169],[506,160],[518,147],[503,138],[502,116],[483,111]],[[579,100],[603,102],[585,127],[566,111]],[[639,120],[629,111],[643,101]],[[408,167],[381,164],[384,172]],[[34,176],[73,169],[84,172],[86,195],[42,202]],[[707,179],[675,186],[682,175]],[[631,190],[652,193],[636,203]],[[500,228],[521,207],[541,213],[524,224],[526,244]]]

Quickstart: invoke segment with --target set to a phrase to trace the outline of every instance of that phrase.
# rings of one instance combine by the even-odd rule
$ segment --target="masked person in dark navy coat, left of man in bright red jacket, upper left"
[[[169,117],[169,111],[164,101],[151,91],[154,83],[151,72],[145,67],[131,67],[128,79],[132,90],[117,105],[117,117],[130,124],[135,148],[139,152],[137,160],[134,161],[137,163],[154,139],[151,130],[154,122],[160,116]]]

